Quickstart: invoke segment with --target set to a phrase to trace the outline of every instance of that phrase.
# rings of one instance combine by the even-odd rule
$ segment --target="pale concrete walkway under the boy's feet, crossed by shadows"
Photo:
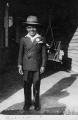
[[[40,88],[41,110],[31,107],[29,112],[22,110],[23,88],[0,103],[0,113],[7,115],[78,115],[78,73],[57,71],[42,78]],[[9,94],[9,92],[8,92]]]

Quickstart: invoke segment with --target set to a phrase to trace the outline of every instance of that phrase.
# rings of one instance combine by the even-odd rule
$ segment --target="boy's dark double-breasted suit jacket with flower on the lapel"
[[[43,43],[34,42],[29,37],[22,37],[20,40],[18,65],[23,65],[23,70],[39,71],[41,66],[46,65],[47,55],[44,38],[38,37]]]

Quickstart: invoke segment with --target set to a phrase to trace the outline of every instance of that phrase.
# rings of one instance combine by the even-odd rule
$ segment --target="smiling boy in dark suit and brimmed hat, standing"
[[[39,92],[40,76],[45,70],[46,47],[44,38],[38,34],[37,28],[40,26],[36,16],[28,16],[26,30],[28,34],[20,40],[18,68],[23,74],[25,104],[23,109],[29,110],[32,105],[31,86],[33,83],[34,109],[40,110]]]

